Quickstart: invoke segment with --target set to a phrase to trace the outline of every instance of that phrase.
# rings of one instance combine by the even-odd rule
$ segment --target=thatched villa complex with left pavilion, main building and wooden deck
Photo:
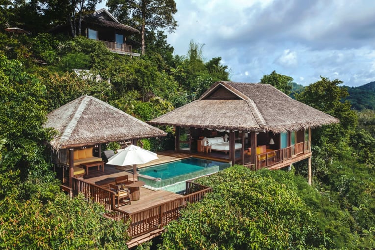
[[[179,217],[183,207],[203,199],[212,188],[195,183],[190,174],[178,180],[184,192],[143,186],[145,182],[136,169],[105,164],[102,144],[137,144],[140,138],[162,137],[166,133],[152,125],[168,125],[175,129],[175,150],[158,152],[159,159],[137,165],[138,172],[182,158],[206,161],[200,163],[203,171],[219,171],[221,168],[215,164],[223,162],[257,170],[279,169],[308,159],[311,183],[311,129],[339,122],[271,85],[223,81],[214,83],[198,100],[148,124],[90,96],[61,106],[47,118],[44,126],[58,132],[50,146],[62,189],[103,204],[108,217],[124,223],[131,219],[129,247],[160,235],[165,225]],[[212,162],[214,166],[208,167]],[[178,171],[172,168],[172,172]]]

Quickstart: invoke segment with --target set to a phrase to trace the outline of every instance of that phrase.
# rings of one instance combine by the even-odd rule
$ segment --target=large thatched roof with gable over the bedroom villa
[[[199,100],[148,123],[238,131],[298,131],[339,120],[268,84],[216,82]]]

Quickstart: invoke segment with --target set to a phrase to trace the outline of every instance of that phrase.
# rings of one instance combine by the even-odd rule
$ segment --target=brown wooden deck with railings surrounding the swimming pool
[[[228,159],[225,159],[225,156],[217,157],[216,153],[187,154],[167,151],[158,153],[159,159],[147,164],[138,165],[137,167],[144,168],[150,165],[162,164],[192,156],[211,160],[229,161]],[[292,157],[291,159],[278,163],[278,165],[273,165],[271,168],[280,168],[285,164],[290,165],[295,161],[308,157],[311,157],[311,152]],[[271,161],[269,163],[271,163]],[[270,166],[268,167],[270,168]],[[188,195],[184,196],[164,190],[154,191],[141,187],[140,200],[131,201],[131,204],[126,204],[116,208],[114,206],[115,197],[113,192],[109,190],[109,183],[115,183],[116,177],[123,175],[128,175],[129,180],[133,180],[132,167],[105,165],[104,172],[102,172],[101,169],[98,170],[92,168],[90,174],[84,176],[83,181],[85,183],[82,183],[79,179],[73,178],[75,179],[73,194],[76,195],[78,192],[83,192],[87,198],[90,198],[90,200],[102,203],[107,210],[115,210],[118,219],[127,221],[131,218],[132,224],[129,227],[129,235],[131,235],[132,239],[127,243],[129,247],[139,245],[142,242],[160,235],[163,231],[164,225],[167,225],[168,222],[179,217],[179,210],[181,208],[186,206],[189,202],[191,203],[201,200],[205,193],[212,191],[212,188],[201,187],[197,192],[194,193],[193,191],[193,193],[191,193],[188,191]],[[187,183],[188,182],[189,181],[187,181]],[[194,183],[191,181],[189,182],[189,185],[193,184]],[[191,189],[189,186],[187,190],[196,189]]]

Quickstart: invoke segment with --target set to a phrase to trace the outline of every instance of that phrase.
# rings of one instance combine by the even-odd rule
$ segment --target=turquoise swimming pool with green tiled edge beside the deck
[[[151,188],[177,193],[185,189],[186,180],[212,174],[229,166],[227,162],[191,157],[139,169],[138,179]]]

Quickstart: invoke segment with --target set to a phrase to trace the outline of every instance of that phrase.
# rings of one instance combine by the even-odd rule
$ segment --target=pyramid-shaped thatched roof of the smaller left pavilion
[[[81,96],[59,107],[47,119],[44,127],[52,127],[59,133],[50,142],[53,150],[166,135],[91,96]]]

